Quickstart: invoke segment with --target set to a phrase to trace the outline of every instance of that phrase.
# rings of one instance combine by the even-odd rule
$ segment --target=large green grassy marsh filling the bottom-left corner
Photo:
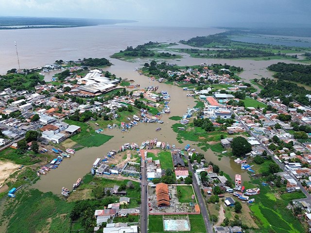
[[[1,221],[9,219],[7,233],[21,232],[21,228],[23,233],[69,233],[69,213],[73,205],[51,192],[21,190],[17,192],[16,199],[5,204]]]

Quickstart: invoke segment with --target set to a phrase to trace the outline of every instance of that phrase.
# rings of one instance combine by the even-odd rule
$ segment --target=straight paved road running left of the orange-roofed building
[[[145,160],[141,161],[141,204],[140,204],[140,232],[148,233],[148,182]]]

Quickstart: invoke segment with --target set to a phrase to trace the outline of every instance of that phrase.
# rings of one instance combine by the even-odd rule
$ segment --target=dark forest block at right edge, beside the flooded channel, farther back
[[[277,64],[269,66],[268,69],[277,72],[273,75],[277,79],[311,85],[311,65],[278,62]]]

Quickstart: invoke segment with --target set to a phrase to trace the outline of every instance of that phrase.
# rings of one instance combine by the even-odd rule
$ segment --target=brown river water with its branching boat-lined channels
[[[61,29],[25,29],[25,30],[1,30],[0,31],[0,73],[17,67],[17,56],[14,41],[17,41],[19,60],[21,68],[38,67],[55,60],[76,60],[84,57],[106,57],[123,50],[127,46],[137,46],[148,41],[177,42],[180,39],[188,39],[197,35],[208,35],[219,33],[222,30],[214,28],[147,28],[128,24],[123,25],[103,25],[95,27],[81,28],[61,28]],[[155,132],[158,124],[140,123],[130,131],[122,133],[120,130],[105,130],[104,133],[113,135],[107,143],[100,147],[84,148],[77,151],[70,159],[64,160],[56,169],[48,172],[46,176],[35,183],[34,187],[41,191],[52,191],[60,193],[61,187],[71,187],[78,177],[83,177],[89,172],[94,160],[103,157],[108,150],[118,150],[124,143],[142,141],[157,137],[159,141],[175,144],[177,147],[184,147],[193,142],[184,141],[180,145],[176,141],[176,133],[171,129],[171,125],[176,121],[168,119],[169,116],[182,116],[188,107],[195,105],[194,99],[186,97],[186,92],[181,88],[164,83],[155,83],[143,75],[138,75],[134,71],[135,67],[144,64],[144,60],[136,63],[128,63],[117,59],[110,59],[114,64],[107,67],[111,73],[117,77],[135,80],[141,88],[149,85],[158,85],[159,91],[167,90],[171,95],[171,114],[162,117],[162,130]],[[198,65],[205,63],[206,59],[190,58],[185,55],[182,59],[168,60],[178,65]],[[270,77],[271,72],[265,68],[278,60],[252,61],[252,60],[226,60],[209,59],[207,63],[227,63],[229,65],[240,66],[244,71],[240,74],[246,82],[254,78]],[[286,62],[286,61],[284,61]],[[196,144],[196,143],[195,143]],[[195,146],[194,146],[195,147]],[[195,147],[196,148],[196,147]],[[234,174],[242,174],[243,180],[249,180],[249,176],[242,171],[240,166],[232,159],[223,157],[221,161],[211,150],[203,152],[207,161],[212,161],[219,165],[232,178]]]

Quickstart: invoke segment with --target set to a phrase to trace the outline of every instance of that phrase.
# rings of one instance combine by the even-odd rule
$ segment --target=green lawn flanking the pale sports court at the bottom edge
[[[206,233],[205,223],[202,215],[189,215],[189,220],[190,220],[190,232],[188,233]],[[163,229],[162,215],[149,215],[148,223],[149,223],[148,225],[149,233],[165,233]]]

